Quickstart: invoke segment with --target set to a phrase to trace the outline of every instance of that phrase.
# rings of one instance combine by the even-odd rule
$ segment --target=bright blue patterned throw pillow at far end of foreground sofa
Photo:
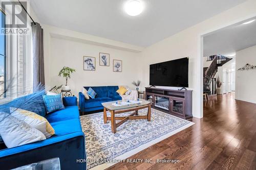
[[[44,99],[47,113],[51,113],[56,110],[65,109],[60,94],[42,95],[42,99]]]

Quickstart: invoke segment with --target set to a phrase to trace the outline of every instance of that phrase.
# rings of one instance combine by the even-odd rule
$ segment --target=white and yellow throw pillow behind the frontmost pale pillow
[[[10,108],[10,112],[12,116],[18,118],[19,120],[23,120],[32,128],[35,128],[44,133],[46,138],[55,134],[54,129],[45,117],[42,117],[34,112],[13,107]]]

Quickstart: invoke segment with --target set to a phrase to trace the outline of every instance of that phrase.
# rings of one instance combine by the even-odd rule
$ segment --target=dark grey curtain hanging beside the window
[[[34,25],[31,22],[32,28],[32,43],[33,43],[33,92],[38,90],[38,87],[45,85],[45,68],[44,68],[44,40],[43,29],[36,22]]]

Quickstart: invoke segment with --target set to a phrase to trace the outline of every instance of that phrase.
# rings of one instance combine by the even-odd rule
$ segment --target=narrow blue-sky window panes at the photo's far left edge
[[[0,28],[5,28],[5,14],[0,11]],[[0,99],[6,97],[6,35],[0,34]]]

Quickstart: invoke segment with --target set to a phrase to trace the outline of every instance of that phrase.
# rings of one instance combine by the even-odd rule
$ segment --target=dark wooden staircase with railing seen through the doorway
[[[210,95],[216,94],[216,78],[214,77],[218,71],[218,67],[222,66],[230,60],[230,58],[222,55],[213,55],[207,57],[207,61],[212,62],[209,67],[204,68],[203,87],[205,93],[209,93]]]

